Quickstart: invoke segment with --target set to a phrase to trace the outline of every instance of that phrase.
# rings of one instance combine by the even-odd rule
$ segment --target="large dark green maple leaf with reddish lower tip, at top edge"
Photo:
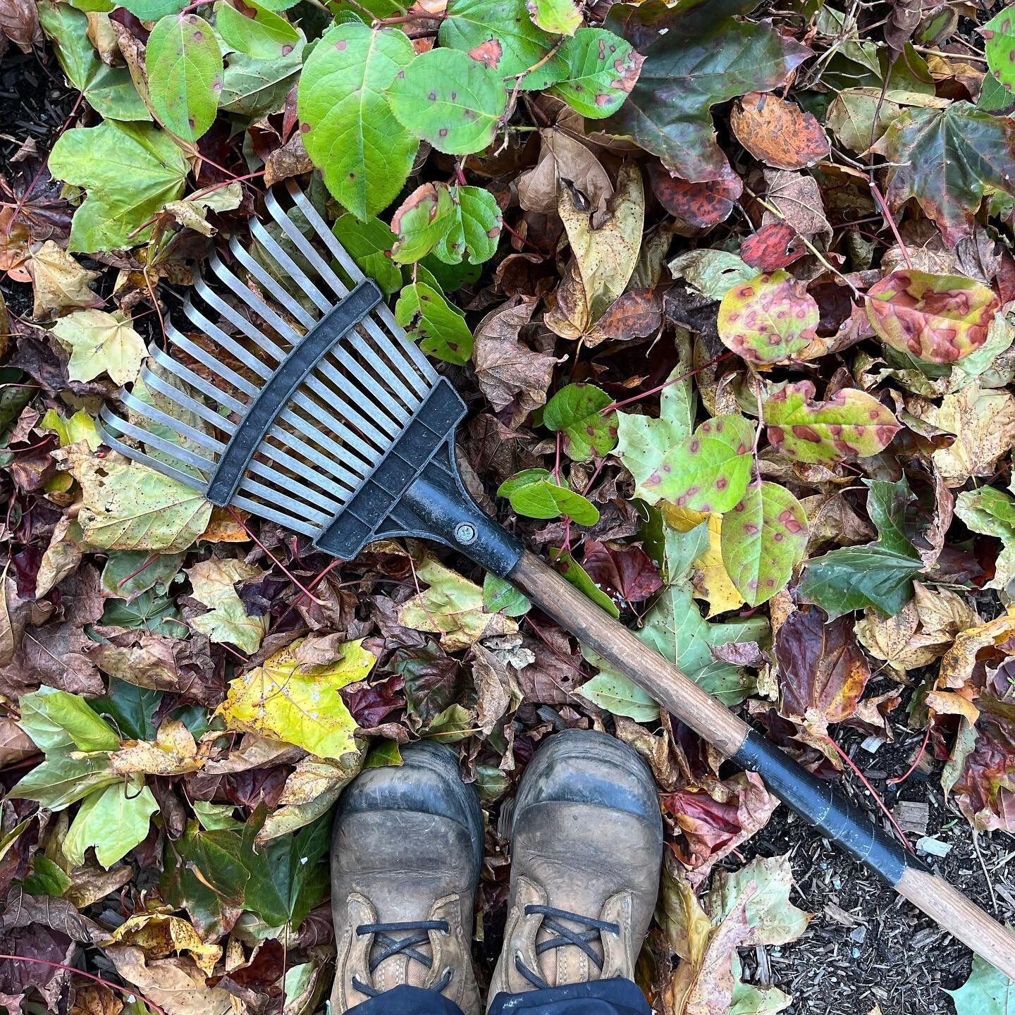
[[[645,62],[630,100],[606,130],[629,136],[684,180],[720,179],[729,163],[716,144],[712,107],[780,87],[811,55],[771,24],[739,16],[755,6],[754,0],[614,4],[603,26]]]

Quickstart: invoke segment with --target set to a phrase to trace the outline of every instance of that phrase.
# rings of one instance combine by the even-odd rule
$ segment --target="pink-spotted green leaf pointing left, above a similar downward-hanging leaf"
[[[693,511],[729,511],[744,495],[754,427],[743,416],[716,416],[670,449],[641,488]]]

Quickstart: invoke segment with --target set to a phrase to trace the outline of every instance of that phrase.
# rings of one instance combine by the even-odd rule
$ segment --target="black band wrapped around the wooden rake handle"
[[[753,730],[730,760],[756,771],[773,796],[892,887],[907,868],[926,869],[832,784],[812,775]]]

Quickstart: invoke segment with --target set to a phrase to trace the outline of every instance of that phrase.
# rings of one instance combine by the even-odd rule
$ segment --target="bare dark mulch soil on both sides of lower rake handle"
[[[887,690],[889,685],[882,678],[876,684],[872,681],[872,690]],[[980,834],[974,843],[968,822],[945,804],[940,784],[943,763],[932,760],[929,774],[918,768],[905,783],[887,784],[906,772],[923,742],[922,732],[904,726],[904,708],[895,715],[894,744],[884,744],[872,754],[860,747],[863,738],[844,731],[836,733],[838,743],[889,809],[900,801],[929,805],[927,834],[952,848],[943,858],[921,855],[929,867],[987,912],[1001,921],[1015,919],[1015,879],[1009,866],[1015,839],[995,832]],[[880,813],[856,775],[848,772],[841,789],[869,812]],[[887,820],[884,824],[887,828]],[[910,842],[918,837],[909,835]],[[742,953],[747,978],[794,996],[788,1012],[868,1015],[875,1005],[883,1015],[954,1011],[945,991],[961,986],[968,976],[969,949],[787,808],[781,807],[741,853],[746,859],[789,853],[799,889],[794,901],[815,913],[799,941],[758,948],[753,960]],[[739,861],[730,866],[738,865]]]

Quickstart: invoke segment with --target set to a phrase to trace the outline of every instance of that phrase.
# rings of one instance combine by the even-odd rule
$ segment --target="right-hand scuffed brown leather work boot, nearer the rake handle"
[[[663,820],[626,744],[566,730],[533,756],[511,818],[512,875],[498,992],[633,978],[659,890]]]

